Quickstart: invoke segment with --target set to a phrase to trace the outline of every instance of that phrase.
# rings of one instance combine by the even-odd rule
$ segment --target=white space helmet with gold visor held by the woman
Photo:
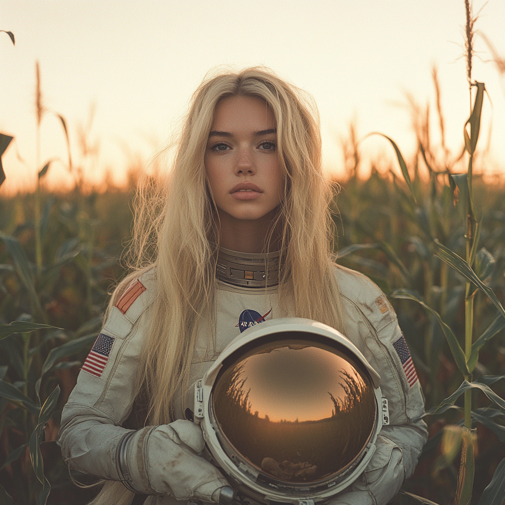
[[[313,505],[347,487],[389,424],[380,377],[345,336],[301,318],[245,330],[195,384],[208,457],[245,497]]]

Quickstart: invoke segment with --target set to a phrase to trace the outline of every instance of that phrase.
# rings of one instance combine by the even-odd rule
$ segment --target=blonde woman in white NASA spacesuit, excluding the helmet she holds
[[[208,78],[163,191],[158,215],[160,196],[140,197],[138,267],[116,289],[62,415],[64,459],[107,481],[93,503],[217,502],[228,482],[184,420],[191,386],[242,329],[286,316],[341,331],[381,375],[390,425],[363,474],[330,501],[387,503],[426,440],[415,421],[423,396],[402,366],[408,349],[386,297],[332,262],[311,99],[263,68]]]

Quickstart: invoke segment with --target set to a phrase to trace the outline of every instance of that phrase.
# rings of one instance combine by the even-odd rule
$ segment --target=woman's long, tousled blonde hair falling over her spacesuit
[[[215,310],[219,223],[204,154],[217,103],[237,95],[260,97],[276,121],[277,156],[285,175],[275,227],[281,245],[281,314],[289,311],[344,330],[331,260],[333,191],[322,174],[319,115],[312,97],[262,67],[210,76],[193,94],[170,183],[159,187],[156,197],[145,188],[138,194],[136,269],[113,296],[114,301],[131,279],[156,267],[157,292],[137,380],[137,392],[148,399],[148,424],[173,420],[171,406],[180,400],[177,391],[186,389],[198,325],[212,319]],[[153,216],[163,200],[163,211]]]

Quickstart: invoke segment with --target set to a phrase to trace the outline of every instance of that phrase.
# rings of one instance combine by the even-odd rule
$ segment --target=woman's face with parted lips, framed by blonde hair
[[[205,169],[222,223],[274,218],[284,183],[276,151],[275,118],[261,98],[231,96],[218,103]]]

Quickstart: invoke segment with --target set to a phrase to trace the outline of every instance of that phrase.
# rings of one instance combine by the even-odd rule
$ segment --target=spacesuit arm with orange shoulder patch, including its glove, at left
[[[205,442],[198,426],[183,420],[137,431],[121,426],[132,409],[149,327],[147,274],[128,286],[84,362],[63,409],[58,443],[73,469],[120,480],[130,491],[217,502],[228,483],[200,456]]]

